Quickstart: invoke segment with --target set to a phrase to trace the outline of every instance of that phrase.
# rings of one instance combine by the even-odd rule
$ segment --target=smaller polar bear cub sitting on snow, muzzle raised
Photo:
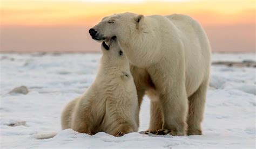
[[[138,131],[139,106],[129,60],[112,38],[102,44],[103,56],[96,80],[86,93],[62,112],[62,129],[123,136]]]

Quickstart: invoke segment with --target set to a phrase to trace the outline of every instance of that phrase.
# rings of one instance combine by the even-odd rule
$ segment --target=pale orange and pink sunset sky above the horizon
[[[255,50],[254,0],[1,0],[0,51],[99,51],[88,30],[121,12],[183,13],[204,26],[213,51]]]

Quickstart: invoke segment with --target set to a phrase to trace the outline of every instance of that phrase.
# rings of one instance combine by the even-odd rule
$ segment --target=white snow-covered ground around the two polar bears
[[[95,79],[100,54],[0,54],[1,148],[255,148],[255,68],[212,66],[202,136],[140,133],[113,137],[60,130],[60,112]],[[251,54],[213,54],[213,61],[254,60]],[[26,86],[27,95],[10,95]],[[139,131],[149,125],[144,97]],[[41,134],[58,133],[50,139]]]

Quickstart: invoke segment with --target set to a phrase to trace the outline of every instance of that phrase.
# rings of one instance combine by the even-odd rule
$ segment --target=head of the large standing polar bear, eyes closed
[[[105,17],[97,25],[93,26],[89,33],[92,39],[109,45],[112,37],[116,36],[120,41],[129,40],[133,33],[138,32],[139,26],[144,21],[143,15],[135,13],[119,13]]]

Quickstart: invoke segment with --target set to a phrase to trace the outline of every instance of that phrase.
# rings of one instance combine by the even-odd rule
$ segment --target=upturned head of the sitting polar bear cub
[[[109,44],[102,42],[102,62],[105,66],[129,67],[129,60],[124,51],[120,48],[117,37],[113,36],[109,40]]]

